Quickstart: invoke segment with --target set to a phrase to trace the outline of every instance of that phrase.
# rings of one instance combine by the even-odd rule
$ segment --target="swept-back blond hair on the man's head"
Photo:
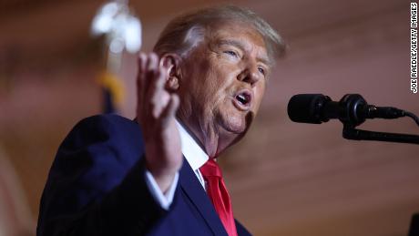
[[[249,9],[234,5],[206,7],[179,15],[161,32],[153,51],[158,56],[166,53],[187,56],[189,51],[203,40],[208,26],[223,21],[249,23],[261,34],[271,61],[285,53],[283,39],[265,20]]]

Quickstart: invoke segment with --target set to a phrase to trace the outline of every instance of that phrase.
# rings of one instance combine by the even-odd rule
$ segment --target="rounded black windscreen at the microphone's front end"
[[[331,98],[322,94],[298,94],[288,102],[288,117],[294,122],[321,124],[321,110]]]

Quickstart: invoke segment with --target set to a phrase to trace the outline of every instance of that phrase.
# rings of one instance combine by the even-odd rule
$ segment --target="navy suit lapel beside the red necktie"
[[[186,159],[183,159],[183,166],[180,169],[179,181],[182,190],[189,197],[189,200],[198,209],[202,218],[207,222],[215,235],[227,235],[220,217],[215,211],[209,197],[197,179],[194,171],[190,168]]]

